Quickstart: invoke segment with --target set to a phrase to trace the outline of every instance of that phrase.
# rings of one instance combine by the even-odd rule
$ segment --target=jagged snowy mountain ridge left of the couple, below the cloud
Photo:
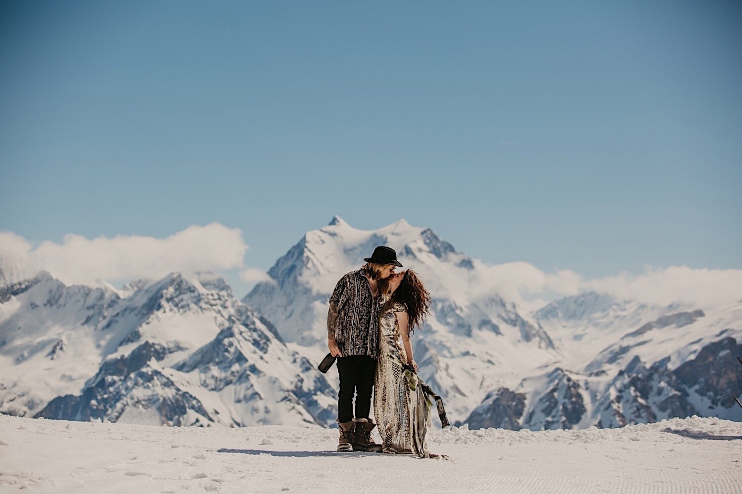
[[[226,426],[326,426],[335,413],[324,376],[211,273],[133,281],[122,296],[48,273],[11,287],[2,413]]]

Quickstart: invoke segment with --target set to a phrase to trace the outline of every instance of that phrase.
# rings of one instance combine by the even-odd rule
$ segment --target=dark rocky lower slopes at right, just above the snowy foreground
[[[620,347],[617,351],[624,355],[628,349]],[[736,410],[735,397],[742,395],[742,365],[737,356],[742,356],[742,344],[731,337],[706,344],[694,358],[674,370],[669,369],[669,357],[648,367],[634,356],[597,396],[591,407],[591,421],[597,427],[623,427],[664,418],[717,416],[721,408]],[[528,410],[519,406],[509,390],[493,390],[466,422],[472,428],[570,429],[585,420],[588,407],[581,387],[592,390],[594,383],[594,389],[601,389],[605,370],[594,370],[580,382],[571,374],[558,367],[552,370],[548,390],[537,396]],[[593,378],[598,380],[591,381]],[[708,410],[696,409],[695,394],[709,403]]]

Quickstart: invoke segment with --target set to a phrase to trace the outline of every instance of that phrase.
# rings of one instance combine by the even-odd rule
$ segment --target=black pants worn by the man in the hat
[[[365,355],[338,358],[340,395],[338,422],[353,419],[353,394],[355,393],[355,418],[369,418],[371,389],[376,373],[376,360]]]

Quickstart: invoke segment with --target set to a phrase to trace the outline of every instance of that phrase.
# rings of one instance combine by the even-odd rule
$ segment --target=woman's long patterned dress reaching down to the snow
[[[425,433],[432,426],[430,403],[416,373],[405,370],[404,344],[395,312],[406,312],[395,302],[379,321],[379,357],[374,383],[374,417],[384,453],[407,453],[430,458]]]

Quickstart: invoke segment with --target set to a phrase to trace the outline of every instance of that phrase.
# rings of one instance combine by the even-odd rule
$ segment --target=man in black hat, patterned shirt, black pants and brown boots
[[[402,265],[395,250],[386,246],[376,247],[364,261],[364,267],[347,273],[335,285],[327,312],[327,347],[338,357],[340,375],[338,451],[381,451],[381,445],[371,439],[376,424],[369,418],[378,358],[379,284]]]

